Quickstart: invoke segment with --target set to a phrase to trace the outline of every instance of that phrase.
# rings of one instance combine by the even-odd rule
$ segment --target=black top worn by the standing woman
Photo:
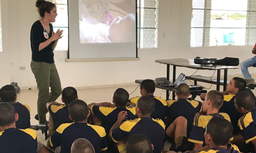
[[[53,25],[49,23],[50,33],[49,38],[52,36]],[[39,44],[43,43],[47,39],[44,37],[44,28],[39,20],[35,21],[31,27],[30,31],[30,43],[32,50],[32,60],[34,62],[45,62],[45,63],[54,63],[54,54],[53,54],[53,42],[47,47],[39,51]]]

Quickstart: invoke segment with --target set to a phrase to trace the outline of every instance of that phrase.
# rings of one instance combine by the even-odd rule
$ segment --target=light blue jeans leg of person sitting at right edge
[[[244,79],[252,79],[252,75],[248,71],[248,67],[256,64],[256,56],[249,58],[240,63],[241,71],[243,73]]]

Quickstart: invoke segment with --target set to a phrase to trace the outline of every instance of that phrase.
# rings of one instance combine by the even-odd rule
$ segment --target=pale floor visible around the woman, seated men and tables
[[[233,77],[234,76],[229,76],[228,79],[231,79]],[[238,77],[242,77],[242,76],[238,75]],[[256,75],[253,75],[253,78],[256,78]],[[206,88],[210,88],[210,86],[211,86],[210,84],[201,83],[201,82],[198,82],[198,84],[201,86],[204,86]],[[94,103],[95,102],[96,103],[112,102],[113,93],[117,88],[124,88],[129,93],[131,93],[137,87],[138,87],[138,85],[134,85],[134,86],[123,86],[123,87],[77,90],[77,92],[78,92],[79,99],[81,99],[81,100],[85,101],[87,104],[89,104],[92,102],[94,102]],[[212,85],[209,90],[214,90],[214,89],[216,89],[216,85]],[[223,86],[221,86],[221,91],[222,90],[223,90]],[[254,92],[254,94],[256,94],[255,90],[253,92]],[[156,89],[154,95],[165,99],[166,91],[161,90],[161,89]],[[18,102],[24,103],[24,104],[27,104],[30,106],[30,108],[31,108],[30,115],[31,115],[31,124],[32,125],[38,124],[38,121],[34,119],[34,116],[37,114],[37,96],[38,96],[38,90],[22,90],[18,94],[18,98],[17,98]],[[130,98],[136,97],[136,96],[140,96],[139,87],[130,95]],[[196,100],[200,100],[200,98],[197,97]],[[59,97],[56,101],[61,103],[61,97]],[[48,113],[46,116],[48,118],[48,116],[49,116]],[[46,144],[47,140],[44,140],[44,135],[41,133],[41,131],[37,131],[37,138],[38,138],[38,141]],[[164,150],[168,150],[169,147],[170,147],[170,144],[166,144]]]

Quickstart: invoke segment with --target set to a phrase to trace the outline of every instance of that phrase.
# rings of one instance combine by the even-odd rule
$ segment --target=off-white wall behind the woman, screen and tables
[[[250,58],[252,46],[190,47],[191,0],[159,0],[159,37],[157,49],[139,49],[140,61],[66,63],[67,51],[54,51],[55,63],[62,87],[96,86],[134,82],[136,79],[155,79],[166,76],[166,65],[154,61],[166,58],[239,57]],[[38,19],[35,0],[1,0],[3,52],[0,53],[0,85],[18,82],[20,87],[36,86],[30,70],[30,28]],[[3,10],[4,9],[4,10]],[[5,28],[5,29],[4,29]],[[9,29],[9,30],[6,30]],[[166,37],[163,38],[163,33]],[[3,55],[2,55],[3,54]],[[9,57],[10,56],[10,57]],[[26,72],[19,70],[26,66]],[[251,72],[256,69],[251,68]],[[178,68],[190,75],[195,70]],[[240,74],[229,70],[229,74]],[[213,71],[199,70],[197,74],[211,76]],[[215,74],[216,75],[216,74]],[[171,75],[172,76],[172,75]]]

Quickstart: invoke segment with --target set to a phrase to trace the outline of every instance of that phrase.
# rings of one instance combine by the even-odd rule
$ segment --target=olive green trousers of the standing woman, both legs
[[[61,94],[59,74],[55,64],[45,62],[34,62],[31,60],[30,67],[35,75],[38,87],[37,112],[39,123],[46,122],[46,103],[55,101]],[[49,87],[51,92],[49,93]]]

